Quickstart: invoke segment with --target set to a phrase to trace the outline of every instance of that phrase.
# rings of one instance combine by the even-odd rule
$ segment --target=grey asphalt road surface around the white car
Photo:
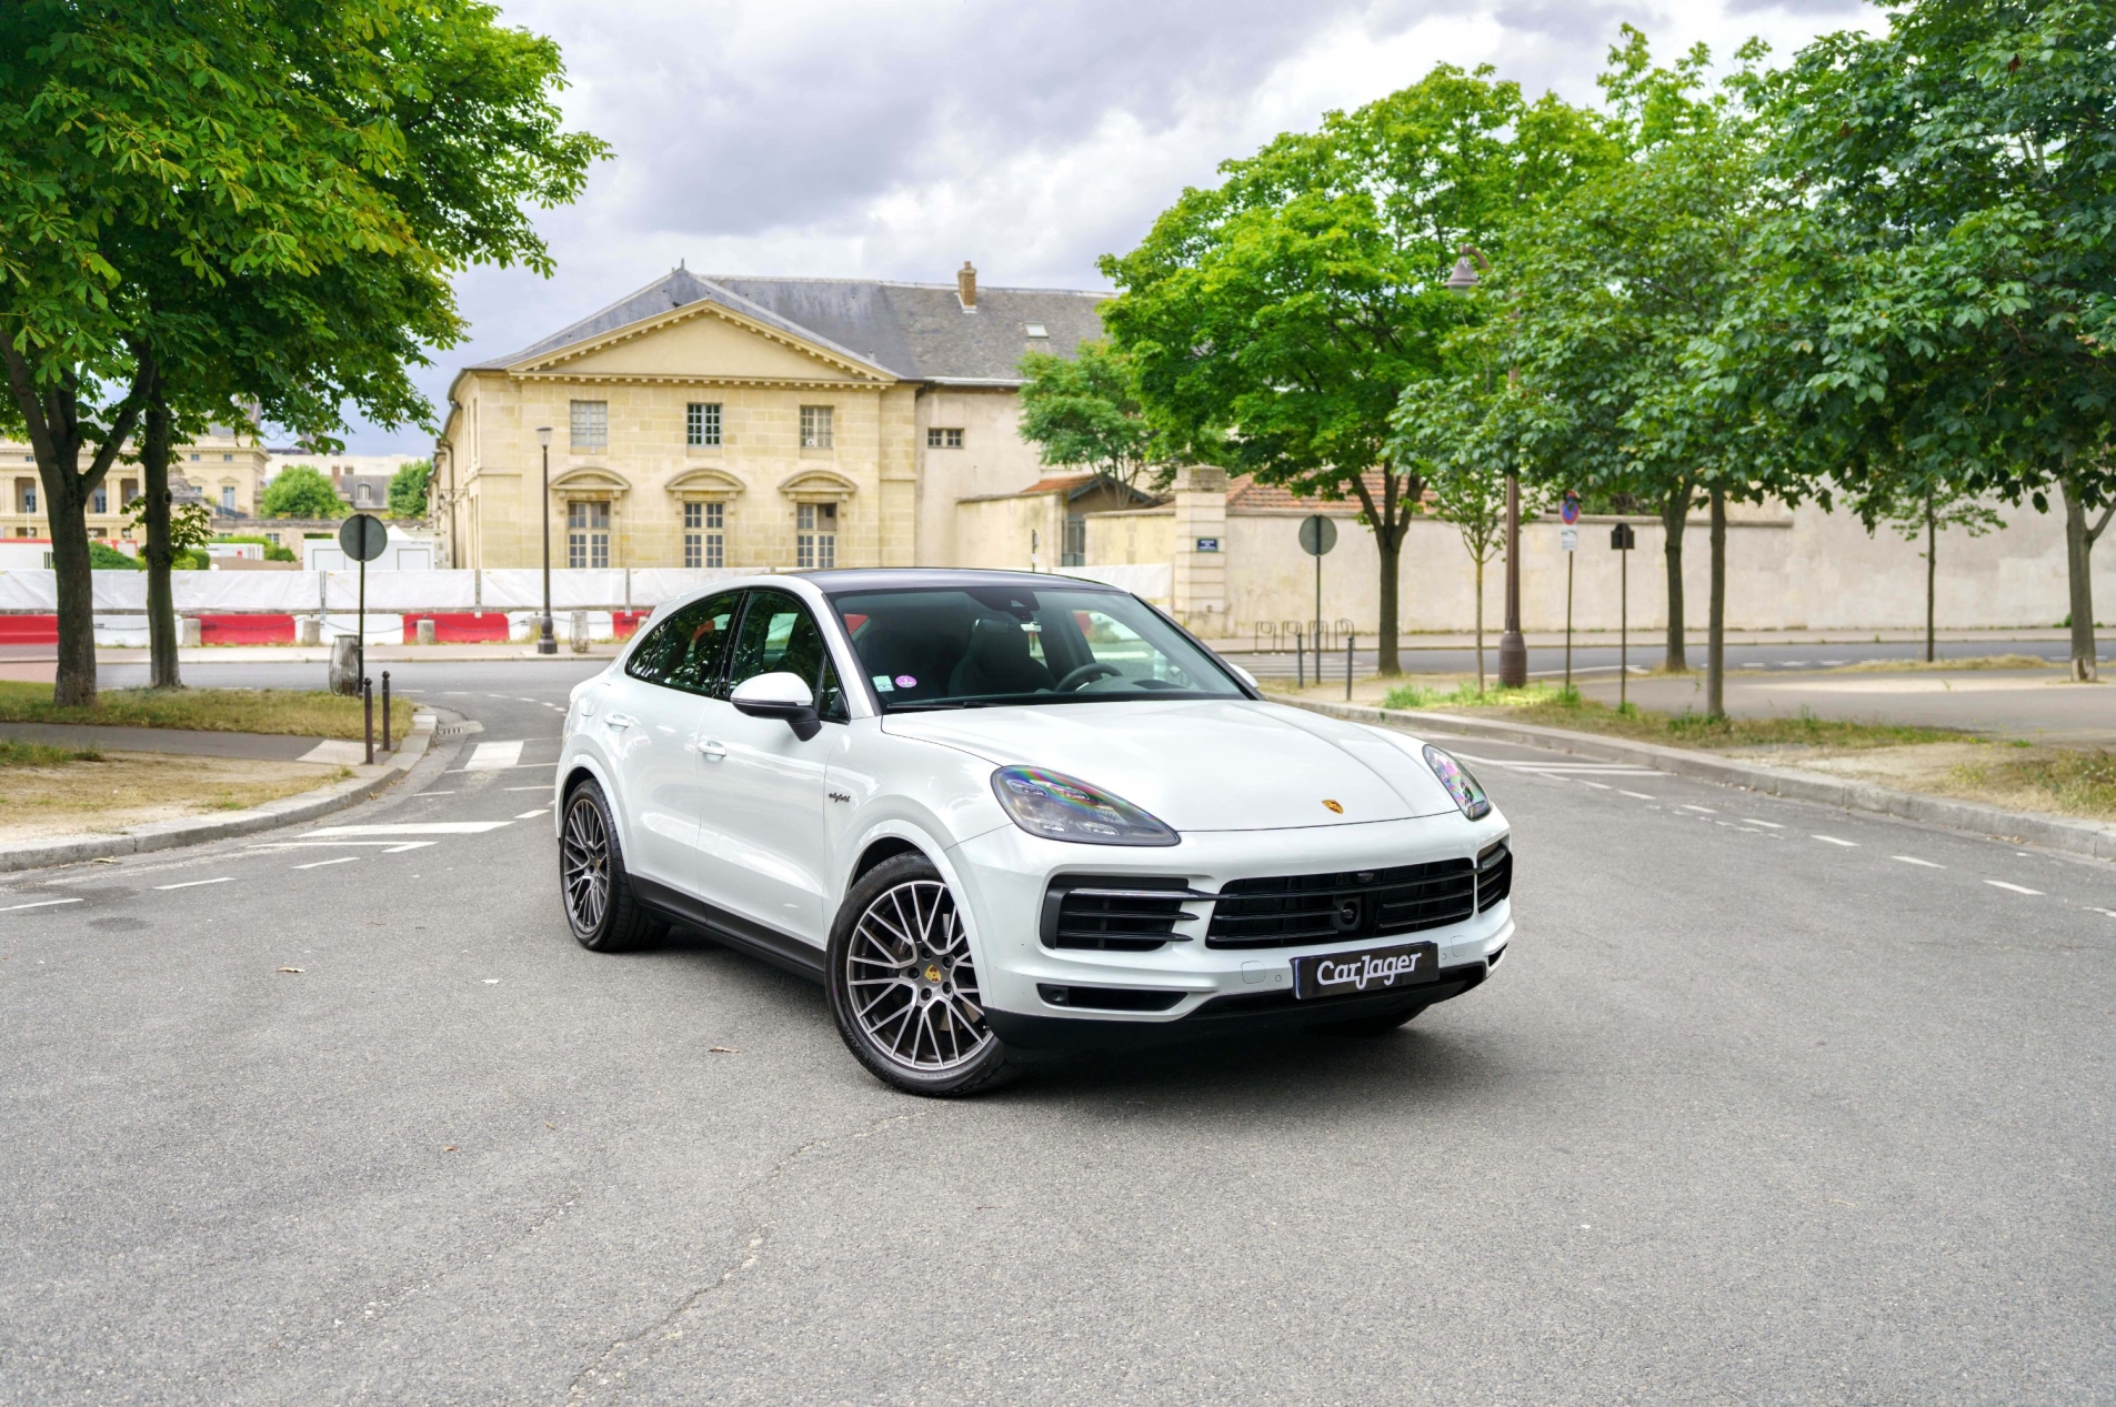
[[[582,669],[404,669],[485,732],[328,829],[453,832],[0,887],[0,1396],[2112,1396],[2110,865],[1464,741],[1483,988],[937,1104],[567,937]]]

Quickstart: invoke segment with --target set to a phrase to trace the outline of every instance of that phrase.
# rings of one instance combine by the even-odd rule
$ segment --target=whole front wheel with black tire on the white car
[[[825,963],[838,1035],[882,1083],[954,1098],[1016,1075],[984,1022],[954,895],[925,855],[859,876],[838,906]]]

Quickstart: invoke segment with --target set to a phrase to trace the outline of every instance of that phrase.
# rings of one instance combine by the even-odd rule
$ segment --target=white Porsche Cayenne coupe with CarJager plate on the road
[[[821,977],[844,1043],[914,1094],[1035,1052],[1392,1030],[1513,935],[1507,821],[1460,762],[1265,702],[1060,575],[671,601],[573,690],[557,823],[586,948],[675,922]]]

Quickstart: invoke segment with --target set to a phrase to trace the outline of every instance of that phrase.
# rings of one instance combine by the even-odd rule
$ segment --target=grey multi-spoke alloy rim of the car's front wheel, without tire
[[[844,948],[844,984],[853,1020],[893,1064],[952,1071],[992,1043],[963,916],[940,880],[876,895]]]

